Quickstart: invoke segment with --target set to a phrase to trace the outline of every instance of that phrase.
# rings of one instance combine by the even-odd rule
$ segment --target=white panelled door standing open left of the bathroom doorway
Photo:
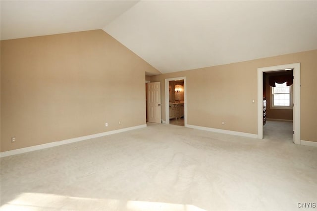
[[[148,118],[160,123],[160,82],[148,83]]]

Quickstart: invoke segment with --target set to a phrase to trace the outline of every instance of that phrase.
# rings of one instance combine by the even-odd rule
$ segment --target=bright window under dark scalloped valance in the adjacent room
[[[273,108],[292,108],[291,86],[287,86],[286,82],[283,84],[275,83],[275,87],[272,87],[271,91],[271,106]]]

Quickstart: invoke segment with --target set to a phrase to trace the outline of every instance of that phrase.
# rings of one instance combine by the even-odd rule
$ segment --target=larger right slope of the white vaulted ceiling
[[[317,1],[141,1],[104,30],[175,72],[317,49]]]

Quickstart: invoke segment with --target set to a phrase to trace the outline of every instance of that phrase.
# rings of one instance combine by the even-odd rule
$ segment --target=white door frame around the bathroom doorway
[[[165,79],[165,124],[169,124],[169,82],[184,80],[184,126],[187,127],[187,84],[186,77]]]

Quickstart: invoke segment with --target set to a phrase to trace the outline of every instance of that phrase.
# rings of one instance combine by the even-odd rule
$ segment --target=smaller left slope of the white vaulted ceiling
[[[102,29],[137,0],[1,0],[1,40]]]

